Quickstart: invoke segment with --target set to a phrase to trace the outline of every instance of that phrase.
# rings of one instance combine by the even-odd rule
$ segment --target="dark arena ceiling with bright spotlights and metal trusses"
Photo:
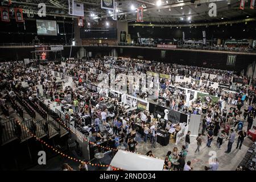
[[[245,9],[240,10],[239,0],[162,0],[160,6],[156,2],[160,0],[118,0],[118,20],[123,22],[135,22],[137,19],[137,7],[143,6],[144,22],[155,23],[188,23],[188,22],[216,22],[222,20],[236,20],[242,18],[254,18],[256,8],[250,9],[250,0],[246,0]],[[12,6],[21,7],[23,10],[37,11],[38,3],[45,3],[47,13],[53,16],[69,16],[68,0],[16,0],[11,1]],[[84,3],[85,19],[98,21],[111,19],[112,12],[101,9],[101,0],[78,0]],[[208,15],[209,3],[217,5],[217,16]],[[26,11],[25,11],[26,13]],[[94,16],[92,16],[92,13]]]

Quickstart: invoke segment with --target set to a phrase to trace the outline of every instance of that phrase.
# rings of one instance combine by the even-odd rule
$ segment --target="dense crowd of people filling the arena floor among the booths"
[[[110,66],[111,65],[111,66]],[[249,89],[245,85],[241,87],[240,92],[230,93],[221,88],[213,89],[210,86],[204,85],[203,88],[213,96],[220,95],[220,101],[216,103],[209,102],[206,113],[203,113],[203,103],[201,98],[197,98],[192,105],[187,106],[185,102],[185,94],[182,90],[177,89],[177,86],[188,86],[193,90],[201,90],[201,85],[192,85],[187,83],[175,82],[175,76],[180,75],[179,70],[187,70],[183,76],[220,82],[228,84],[231,82],[233,72],[219,71],[207,68],[187,67],[175,64],[151,63],[150,61],[132,60],[132,59],[110,59],[105,57],[98,60],[67,60],[65,64],[51,64],[42,67],[36,64],[24,65],[23,63],[2,64],[0,67],[0,80],[1,80],[1,94],[0,106],[3,115],[9,118],[10,100],[15,100],[18,96],[20,98],[28,98],[29,100],[38,101],[43,98],[49,98],[50,103],[56,102],[61,106],[66,104],[72,105],[69,107],[67,120],[70,122],[70,116],[77,117],[75,125],[90,126],[92,129],[91,142],[97,142],[104,139],[102,131],[114,135],[114,147],[117,148],[121,145],[125,146],[127,150],[134,152],[138,144],[141,142],[150,142],[151,148],[156,147],[157,130],[160,122],[152,117],[152,113],[148,111],[127,111],[124,106],[118,105],[118,100],[114,99],[113,109],[102,109],[98,105],[92,104],[92,96],[88,89],[85,89],[86,95],[81,98],[77,92],[79,86],[84,86],[83,82],[97,83],[97,75],[100,73],[110,74],[110,67],[115,68],[115,74],[129,73],[129,72],[143,72],[148,71],[157,72],[162,74],[171,75],[169,79],[160,78],[159,82],[166,85],[175,85],[174,88],[164,89],[160,92],[160,99],[163,100],[164,105],[172,110],[181,111],[187,114],[201,114],[203,115],[202,130],[196,138],[197,148],[195,153],[199,154],[200,147],[203,144],[203,136],[207,135],[207,147],[211,147],[214,138],[216,146],[221,148],[224,140],[228,140],[226,153],[232,150],[233,143],[235,142],[236,135],[238,135],[237,148],[241,149],[243,140],[246,137],[246,131],[250,130],[253,125],[253,120],[256,115],[256,95],[254,89]],[[128,69],[129,68],[129,69]],[[65,75],[72,76],[74,80],[73,88],[67,87],[60,89],[56,75],[52,75],[51,71],[59,72]],[[202,76],[203,73],[214,74],[220,77],[209,78]],[[27,82],[27,87],[24,88],[22,82]],[[230,83],[229,83],[230,84]],[[232,84],[232,83],[231,83]],[[40,94],[38,85],[42,85],[43,95]],[[185,85],[185,86],[184,86]],[[139,96],[138,96],[139,97]],[[9,100],[10,99],[10,100]],[[99,96],[97,102],[110,102],[108,97]],[[222,103],[225,101],[223,109]],[[229,107],[229,109],[227,109]],[[243,109],[244,108],[244,109]],[[90,121],[86,121],[90,118]],[[142,129],[142,134],[139,134],[139,126]],[[86,123],[86,124],[85,124]],[[245,130],[245,124],[247,130]],[[168,131],[172,127],[171,122],[166,122],[164,126]],[[179,123],[174,126],[175,133],[178,133],[181,128]],[[177,147],[172,151],[168,151],[165,159],[166,169],[176,169],[190,171],[192,170],[191,162],[185,163],[187,156],[190,137],[189,131],[185,136],[184,146],[178,151]],[[154,156],[152,151],[147,152],[148,156]],[[88,169],[81,166],[81,169]],[[205,169],[216,170],[218,168],[217,159],[214,159],[214,165],[205,167]],[[68,164],[63,165],[63,170],[72,170]]]

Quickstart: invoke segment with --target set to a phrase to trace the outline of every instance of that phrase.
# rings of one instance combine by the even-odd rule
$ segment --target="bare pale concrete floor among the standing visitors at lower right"
[[[245,103],[245,106],[248,106],[247,103]],[[245,106],[242,107],[242,111],[245,108]],[[226,107],[227,109],[229,109],[230,106]],[[256,126],[256,119],[254,119],[253,126]],[[243,129],[247,129],[247,122],[245,122]],[[242,161],[248,148],[253,144],[253,142],[246,137],[245,140],[243,141],[241,150],[239,150],[239,148],[236,149],[237,138],[238,135],[236,136],[236,141],[233,143],[232,151],[229,154],[226,154],[225,151],[228,148],[228,141],[224,141],[221,148],[218,149],[216,147],[217,137],[214,137],[211,147],[208,148],[206,147],[207,136],[203,136],[203,143],[200,148],[200,152],[199,154],[195,154],[195,150],[197,147],[196,137],[191,137],[191,144],[189,144],[188,154],[187,158],[185,159],[185,162],[190,160],[193,170],[201,171],[204,170],[204,166],[209,166],[209,159],[212,159],[210,157],[214,155],[217,157],[218,162],[220,163],[218,171],[234,171]],[[172,151],[174,147],[177,147],[179,151],[181,150],[181,147],[185,145],[184,139],[185,138],[181,139],[177,145],[175,143],[170,142],[167,146],[161,146],[159,143],[156,143],[156,148],[151,148],[150,142],[139,142],[139,144],[137,145],[137,152],[140,152],[141,154],[146,154],[148,151],[152,150],[152,153],[156,157],[165,159],[167,152]]]

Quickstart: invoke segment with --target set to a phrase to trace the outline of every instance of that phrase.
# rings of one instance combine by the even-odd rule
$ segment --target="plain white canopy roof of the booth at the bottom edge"
[[[118,150],[108,170],[110,170],[111,167],[125,171],[163,171],[164,160]]]

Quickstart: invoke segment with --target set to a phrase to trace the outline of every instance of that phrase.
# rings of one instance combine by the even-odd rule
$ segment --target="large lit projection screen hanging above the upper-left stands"
[[[53,20],[36,20],[38,35],[57,35],[56,21]]]

